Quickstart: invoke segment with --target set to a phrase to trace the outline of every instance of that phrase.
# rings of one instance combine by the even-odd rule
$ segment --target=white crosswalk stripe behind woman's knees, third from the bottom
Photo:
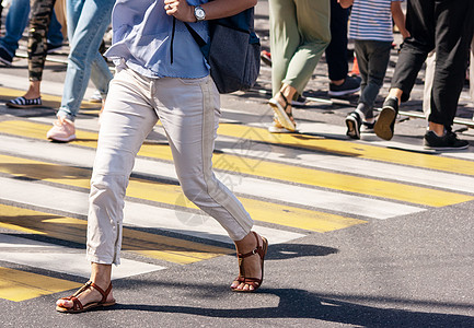
[[[0,140],[3,140],[3,138],[0,138]],[[5,148],[9,148],[10,151],[14,151],[12,147],[8,145],[8,142],[1,142],[0,147],[3,143]],[[50,145],[53,147],[48,148],[49,151],[45,151],[44,153],[47,153],[48,156],[55,156],[56,161],[62,159],[73,159],[76,165],[86,164],[88,166],[91,163],[91,155],[88,156],[89,160],[85,160],[86,163],[82,163],[85,156],[79,156],[79,154],[76,153],[77,148],[66,145],[58,148],[60,149],[60,151],[58,151],[58,149],[55,148],[57,144]],[[27,147],[27,144],[25,147]],[[21,151],[24,153],[25,150],[21,149]],[[19,150],[15,153],[18,152]],[[176,179],[173,164],[161,162],[157,163],[143,159],[137,160],[134,172],[157,174]],[[243,177],[229,173],[217,173],[217,176],[222,180],[226,180],[227,185],[229,185],[228,183],[231,181],[232,186],[229,185],[228,187],[230,187],[230,189],[232,189],[234,192],[253,197],[265,197],[267,199],[286,201],[303,207],[314,207],[317,209],[349,213],[352,215],[363,215],[383,220],[393,216],[416,213],[424,210],[418,207],[405,206],[391,201],[370,199],[361,196],[352,196],[335,191],[319,190],[310,187],[281,184],[253,177]]]

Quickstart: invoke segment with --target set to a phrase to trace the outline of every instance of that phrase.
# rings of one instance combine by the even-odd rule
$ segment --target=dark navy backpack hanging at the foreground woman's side
[[[210,66],[219,93],[247,91],[258,78],[261,40],[254,31],[254,8],[233,16],[210,20],[209,43],[184,23]]]

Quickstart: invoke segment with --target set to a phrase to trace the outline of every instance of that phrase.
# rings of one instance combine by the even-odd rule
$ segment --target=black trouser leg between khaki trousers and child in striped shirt
[[[337,0],[331,0],[331,43],[325,51],[331,81],[343,80],[347,77],[348,19],[349,9],[342,8]]]

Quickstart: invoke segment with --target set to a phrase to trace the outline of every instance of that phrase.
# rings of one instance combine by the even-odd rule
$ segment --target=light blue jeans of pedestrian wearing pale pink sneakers
[[[114,3],[115,0],[66,1],[70,52],[58,116],[74,120],[90,78],[102,96],[107,95],[113,75],[99,47],[111,23]]]

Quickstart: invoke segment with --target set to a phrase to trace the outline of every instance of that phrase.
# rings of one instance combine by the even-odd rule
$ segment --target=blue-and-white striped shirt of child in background
[[[391,5],[403,0],[354,0],[349,38],[393,42]]]

